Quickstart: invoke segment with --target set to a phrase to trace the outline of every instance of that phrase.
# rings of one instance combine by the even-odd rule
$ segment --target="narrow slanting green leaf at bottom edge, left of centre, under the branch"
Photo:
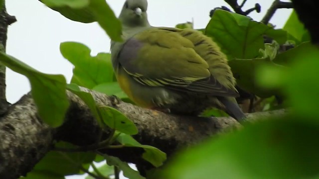
[[[104,155],[106,162],[110,166],[117,166],[120,170],[123,171],[123,175],[129,179],[145,179],[140,175],[138,171],[133,170],[128,163],[121,161],[117,157]]]

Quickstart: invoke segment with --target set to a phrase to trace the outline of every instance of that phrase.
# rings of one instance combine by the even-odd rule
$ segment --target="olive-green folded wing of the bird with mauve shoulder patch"
[[[209,72],[194,44],[179,33],[152,28],[128,39],[117,61],[137,82],[150,86],[220,96],[237,92],[222,86]]]

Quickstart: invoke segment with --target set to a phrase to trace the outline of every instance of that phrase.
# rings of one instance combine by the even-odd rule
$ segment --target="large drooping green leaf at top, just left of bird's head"
[[[105,0],[40,1],[71,20],[84,23],[97,21],[112,40],[122,40],[121,22]]]

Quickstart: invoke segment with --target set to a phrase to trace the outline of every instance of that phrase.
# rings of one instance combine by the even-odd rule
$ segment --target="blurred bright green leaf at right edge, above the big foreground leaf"
[[[288,74],[287,92],[294,110],[305,118],[319,116],[319,49],[312,45],[291,57],[294,64]],[[318,122],[318,120],[317,120]]]

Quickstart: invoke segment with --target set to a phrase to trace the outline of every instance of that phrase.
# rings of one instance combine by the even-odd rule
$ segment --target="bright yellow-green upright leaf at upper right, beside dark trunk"
[[[304,24],[299,21],[295,11],[291,13],[283,29],[288,31],[289,39],[296,41],[297,45],[305,41],[310,41],[310,34]]]

